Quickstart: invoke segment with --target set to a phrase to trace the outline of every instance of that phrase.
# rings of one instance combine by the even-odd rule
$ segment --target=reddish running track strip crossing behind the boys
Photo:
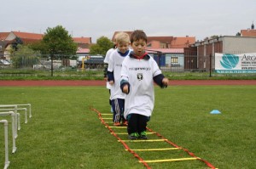
[[[105,86],[105,81],[1,81],[0,87]],[[256,80],[170,80],[171,86],[183,85],[256,85]]]

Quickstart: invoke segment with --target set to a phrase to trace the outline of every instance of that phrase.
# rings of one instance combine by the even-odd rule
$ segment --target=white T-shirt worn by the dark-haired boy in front
[[[130,93],[125,96],[125,118],[134,113],[151,116],[154,109],[154,76],[162,72],[155,60],[126,57],[121,70],[121,80],[130,83]]]

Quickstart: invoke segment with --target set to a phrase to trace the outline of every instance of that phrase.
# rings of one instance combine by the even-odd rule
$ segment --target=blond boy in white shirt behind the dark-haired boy
[[[120,72],[123,60],[131,52],[130,38],[125,32],[119,32],[115,36],[116,49],[110,54],[108,61],[108,82],[111,85],[111,104],[113,108],[113,125],[127,126],[124,118],[125,93],[120,89]]]

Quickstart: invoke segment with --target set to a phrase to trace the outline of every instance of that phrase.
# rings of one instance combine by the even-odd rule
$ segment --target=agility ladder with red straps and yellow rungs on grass
[[[138,161],[140,163],[143,163],[144,166],[146,166],[148,169],[150,169],[150,166],[148,166],[148,163],[157,163],[157,162],[172,162],[172,161],[194,161],[194,160],[199,160],[204,162],[207,166],[209,166],[212,169],[218,169],[215,166],[212,166],[212,164],[206,160],[201,159],[200,157],[197,157],[196,155],[194,155],[194,153],[189,152],[188,149],[184,149],[183,147],[177,146],[177,144],[172,143],[171,141],[169,141],[168,139],[164,138],[162,135],[160,135],[160,133],[158,132],[154,132],[152,129],[148,128],[148,134],[155,134],[157,135],[160,139],[146,139],[146,140],[122,140],[121,138],[119,138],[118,135],[122,135],[122,134],[127,134],[125,132],[114,132],[113,128],[126,128],[126,127],[114,127],[114,126],[109,126],[108,123],[111,123],[109,121],[104,121],[104,120],[112,120],[112,118],[109,117],[102,117],[102,115],[113,115],[113,114],[102,114],[99,110],[96,110],[95,108],[90,108],[90,110],[93,110],[97,113],[99,119],[101,120],[102,124],[108,128],[109,132],[118,139],[118,142],[120,142],[121,144],[124,145],[125,150],[129,151],[132,155],[134,155]],[[129,146],[125,143],[127,142],[166,142],[167,144],[171,144],[173,146],[173,148],[165,148],[165,149],[130,149]],[[166,160],[152,160],[152,161],[144,161],[143,158],[139,155],[137,155],[137,153],[135,151],[161,151],[161,150],[172,150],[172,149],[183,149],[183,151],[185,151],[186,153],[188,153],[191,157],[189,158],[178,158],[178,159],[166,159]]]

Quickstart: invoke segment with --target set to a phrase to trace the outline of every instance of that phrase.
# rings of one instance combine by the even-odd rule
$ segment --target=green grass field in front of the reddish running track
[[[32,104],[32,118],[27,124],[21,113],[15,154],[11,154],[9,125],[10,169],[144,168],[109,134],[96,112],[90,110],[93,106],[109,113],[105,87],[0,87],[0,93],[0,104]],[[155,87],[154,113],[148,127],[218,168],[254,168],[255,93],[255,86]],[[211,110],[222,114],[211,115]],[[10,120],[10,117],[0,116],[0,119]],[[3,125],[0,135],[0,167],[3,167]],[[140,155],[152,159],[171,154]],[[185,155],[177,153],[179,157],[189,157]],[[207,168],[201,161],[148,165]]]

